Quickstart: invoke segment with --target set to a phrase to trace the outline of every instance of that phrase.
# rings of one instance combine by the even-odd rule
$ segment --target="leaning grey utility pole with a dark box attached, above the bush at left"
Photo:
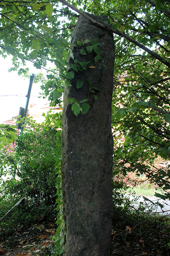
[[[27,115],[28,104],[29,104],[29,100],[30,100],[30,94],[31,94],[31,88],[32,88],[33,80],[34,80],[34,74],[32,74],[32,75],[30,76],[30,85],[29,85],[29,88],[28,88],[28,93],[27,93],[27,95],[26,95],[27,100],[26,100],[25,109],[22,108],[22,107],[20,107],[19,115],[21,115],[21,118],[26,117],[26,115]],[[20,118],[20,117],[17,118],[17,121],[20,121],[21,118]],[[17,128],[17,129],[20,129],[21,132],[23,132],[23,130],[24,130],[23,123],[18,123],[18,124],[16,125],[16,128]]]

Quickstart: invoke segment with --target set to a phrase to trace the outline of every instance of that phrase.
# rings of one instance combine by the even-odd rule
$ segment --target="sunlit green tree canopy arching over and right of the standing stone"
[[[79,14],[114,34],[113,175],[120,171],[124,175],[128,171],[135,171],[137,175],[145,173],[164,190],[162,198],[168,199],[168,0],[1,1],[0,54],[13,56],[10,71],[18,70],[19,74],[27,75],[28,61],[39,70],[46,69],[47,78],[42,74],[37,76],[43,83],[44,96],[49,97],[51,104],[60,103],[62,92],[70,86],[74,73],[95,68],[76,60],[71,65],[67,62],[69,54],[74,58],[69,42]],[[106,15],[111,27],[107,22],[95,22],[88,14]],[[95,51],[96,61],[100,61],[98,45],[87,42],[77,42],[81,54]],[[83,81],[76,86],[81,88]],[[88,111],[88,102],[82,103]],[[70,99],[76,115],[83,114],[82,103]],[[154,164],[158,156],[167,161],[165,167]]]

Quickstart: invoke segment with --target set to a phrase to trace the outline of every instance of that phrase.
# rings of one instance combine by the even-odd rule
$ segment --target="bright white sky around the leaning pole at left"
[[[11,55],[5,59],[0,57],[0,124],[3,121],[10,119],[12,116],[16,116],[19,113],[20,107],[25,108],[27,99],[25,96],[28,93],[28,87],[30,84],[30,80],[28,78],[24,79],[21,76],[18,76],[17,71],[8,72],[8,69],[12,67],[11,58]],[[29,68],[31,73],[34,74],[40,71],[39,69],[36,69],[32,64],[29,65]],[[47,99],[38,98],[40,91],[40,83],[34,83],[33,81],[31,97],[28,106],[30,106],[31,103],[42,105],[48,102]]]

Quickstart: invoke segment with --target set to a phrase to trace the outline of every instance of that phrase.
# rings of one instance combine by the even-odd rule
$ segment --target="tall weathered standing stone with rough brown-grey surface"
[[[100,22],[106,17],[93,16]],[[64,95],[62,116],[62,179],[64,218],[66,222],[65,256],[108,256],[112,230],[112,157],[111,102],[113,92],[113,35],[80,17],[72,34],[72,43],[98,38],[102,60],[94,62],[96,53],[80,54],[83,47],[74,47],[75,59],[92,61],[95,68],[76,73]],[[69,59],[70,63],[73,60]],[[91,64],[90,64],[91,65]],[[84,82],[89,79],[100,91],[95,95]],[[67,98],[89,99],[87,114],[75,116]]]

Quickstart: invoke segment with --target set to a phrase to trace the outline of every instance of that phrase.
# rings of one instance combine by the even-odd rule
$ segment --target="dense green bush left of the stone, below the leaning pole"
[[[60,176],[61,115],[48,115],[41,125],[32,120],[27,120],[27,124],[29,128],[17,135],[13,143],[6,144],[0,152],[2,223],[7,222],[6,212],[25,198],[22,212],[14,212],[15,218],[11,218],[11,225],[14,221],[21,224],[26,219],[27,222],[40,218],[52,219],[56,214],[55,185],[59,184],[56,184],[56,179]],[[13,178],[14,174],[16,179]],[[7,226],[11,228],[9,224]]]

